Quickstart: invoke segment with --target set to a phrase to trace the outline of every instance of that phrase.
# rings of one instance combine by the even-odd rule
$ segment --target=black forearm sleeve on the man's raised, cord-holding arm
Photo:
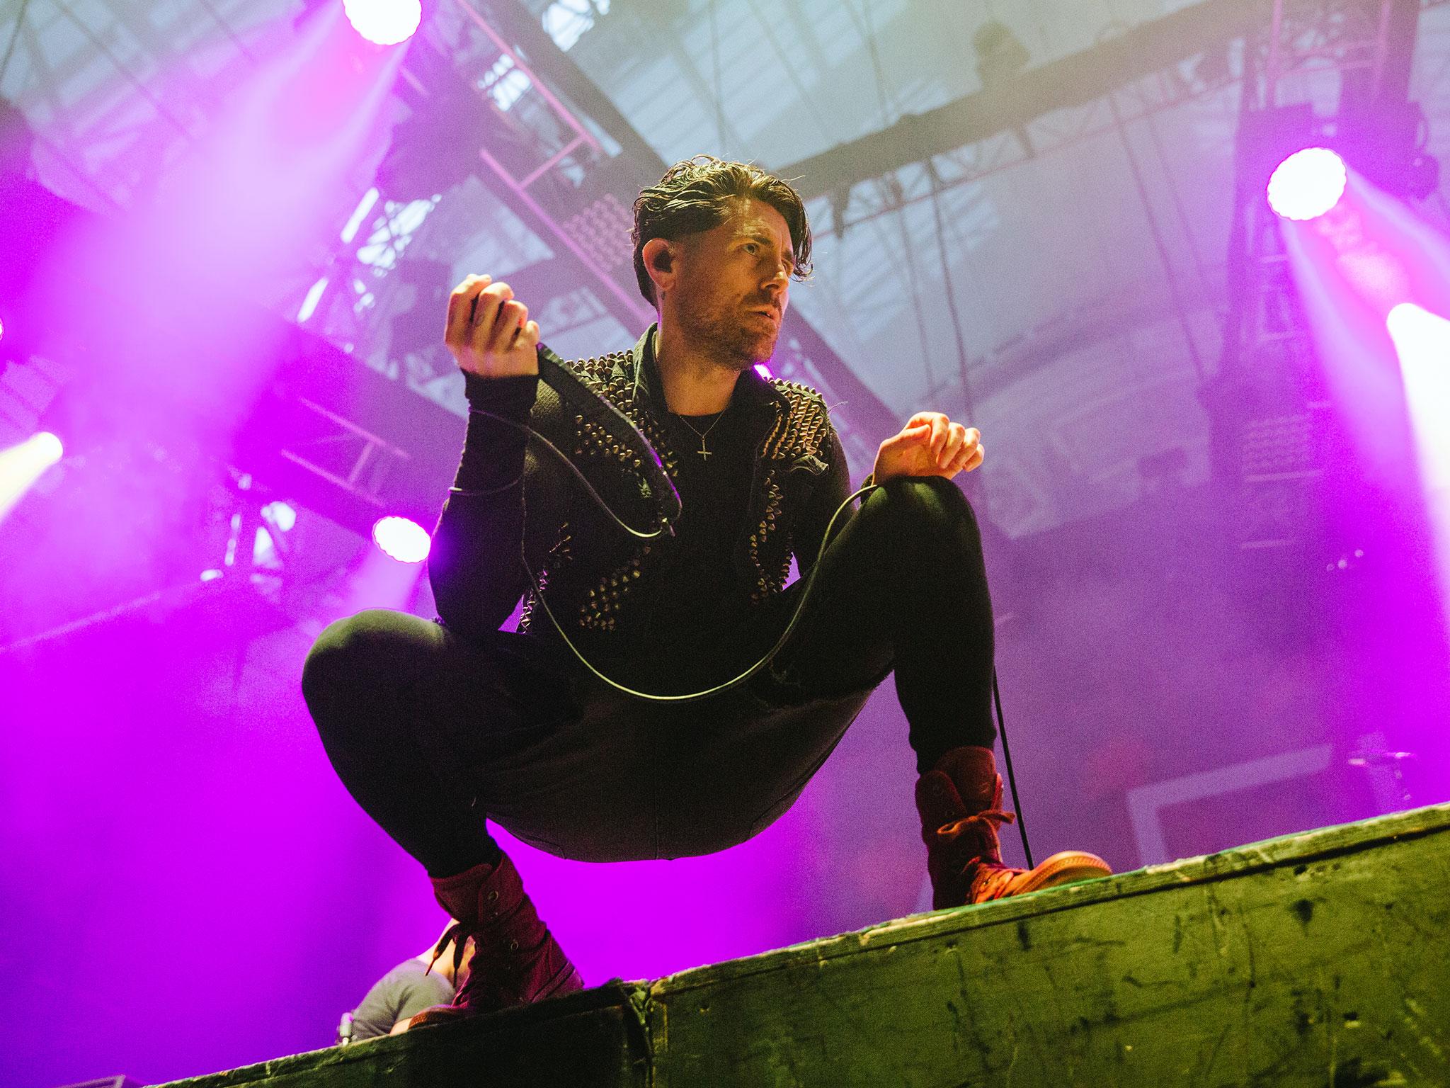
[[[468,431],[428,556],[438,615],[463,638],[499,630],[523,595],[526,432],[480,411],[531,422],[538,379],[465,376]]]

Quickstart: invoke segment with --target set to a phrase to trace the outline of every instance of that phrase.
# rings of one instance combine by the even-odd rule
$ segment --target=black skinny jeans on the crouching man
[[[802,586],[729,632],[722,657],[748,666],[768,650]],[[890,480],[863,500],[789,643],[721,695],[645,702],[552,640],[465,643],[386,611],[328,627],[303,693],[364,811],[429,875],[450,876],[494,856],[484,817],[594,862],[741,843],[790,807],[892,670],[918,770],[995,741],[982,538],[966,498],[937,477]]]

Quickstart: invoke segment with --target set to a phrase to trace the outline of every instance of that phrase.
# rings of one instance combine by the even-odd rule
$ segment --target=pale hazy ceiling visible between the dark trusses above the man
[[[483,25],[508,33],[529,20],[658,160],[706,151],[799,176],[816,273],[795,286],[793,306],[895,418],[937,409],[979,425],[992,456],[989,516],[1022,535],[1131,502],[1144,487],[1140,464],[1164,453],[1186,454],[1186,483],[1208,473],[1198,386],[1221,350],[1241,46],[1190,36],[1177,57],[1089,100],[928,148],[940,152],[929,167],[924,152],[874,177],[832,174],[832,149],[982,93],[973,39],[990,20],[1025,46],[1031,77],[1215,4],[1224,19],[1253,7],[480,0],[474,19],[439,0],[422,33],[499,116],[538,113],[539,88]],[[12,0],[0,7],[0,45],[14,28],[0,94],[36,129],[46,184],[120,215],[204,139],[226,88],[312,6]],[[393,122],[419,110],[399,90]],[[1447,6],[1421,15],[1411,97],[1424,106],[1431,152],[1450,161]],[[587,118],[592,103],[576,94],[574,104]],[[622,155],[615,135],[592,135],[600,157]],[[564,355],[634,341],[638,323],[619,300],[577,268],[563,274],[573,265],[560,236],[503,199],[481,164],[397,200],[377,190],[376,168],[376,157],[357,164],[352,191],[338,194],[334,241],[262,300],[276,312],[452,411],[461,389],[428,341],[429,315],[468,271],[525,284]],[[1450,223],[1443,191],[1421,210]],[[851,418],[853,403],[837,411]],[[882,437],[853,444],[857,477]]]

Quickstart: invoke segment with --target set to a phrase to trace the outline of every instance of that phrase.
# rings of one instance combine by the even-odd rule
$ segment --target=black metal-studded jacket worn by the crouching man
[[[650,440],[679,480],[680,457],[666,426],[667,406],[652,353],[654,326],[632,351],[568,364]],[[619,516],[644,528],[632,489],[632,453],[535,377],[468,379],[473,408],[528,422],[568,454]],[[731,400],[748,429],[754,458],[744,519],[729,547],[731,601],[710,605],[721,622],[738,619],[780,593],[790,559],[802,573],[815,561],[831,515],[850,493],[845,454],[821,396],[808,386],[745,370]],[[837,531],[845,522],[842,514]],[[684,635],[651,627],[651,595],[667,580],[674,538],[639,541],[603,515],[552,453],[496,419],[471,413],[454,489],[434,532],[429,579],[442,622],[461,637],[497,630],[528,593],[519,631],[557,640],[535,601],[522,554],[542,585],[550,611],[570,640],[609,660],[650,650],[658,663]],[[722,548],[724,554],[724,548]],[[673,592],[690,582],[668,579]],[[647,640],[651,646],[641,647]]]

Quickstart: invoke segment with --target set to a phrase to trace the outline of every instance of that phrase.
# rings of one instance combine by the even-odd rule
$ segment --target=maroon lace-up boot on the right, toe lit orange
[[[992,749],[953,749],[916,780],[916,811],[927,843],[932,910],[987,902],[1074,881],[1108,876],[1096,854],[1063,850],[1035,869],[1002,865],[998,827],[1016,817],[1002,811],[1002,776]]]

